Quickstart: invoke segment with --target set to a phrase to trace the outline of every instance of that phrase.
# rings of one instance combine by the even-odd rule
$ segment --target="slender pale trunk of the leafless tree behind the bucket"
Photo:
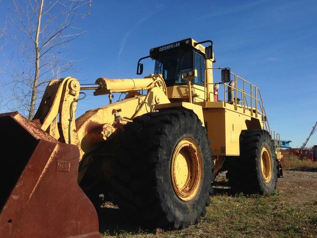
[[[36,35],[35,35],[35,74],[34,74],[34,81],[33,81],[33,87],[32,87],[32,97],[31,97],[31,104],[30,104],[30,111],[29,111],[29,119],[33,119],[34,117],[34,111],[35,111],[35,103],[36,103],[36,96],[37,96],[37,86],[38,86],[38,80],[39,80],[39,74],[40,74],[40,48],[39,48],[39,36],[40,36],[40,29],[41,29],[41,17],[42,17],[42,10],[43,10],[43,3],[44,0],[41,0],[40,3],[40,11],[38,15],[38,24],[36,29]]]

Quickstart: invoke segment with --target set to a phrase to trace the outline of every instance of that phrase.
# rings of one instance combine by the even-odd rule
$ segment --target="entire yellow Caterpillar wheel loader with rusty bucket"
[[[211,40],[153,48],[138,75],[147,58],[144,78],[53,80],[32,120],[0,115],[0,237],[97,238],[102,194],[144,226],[185,228],[224,169],[233,193],[274,191],[282,168],[260,89],[213,67]],[[109,104],[76,117],[85,90]]]

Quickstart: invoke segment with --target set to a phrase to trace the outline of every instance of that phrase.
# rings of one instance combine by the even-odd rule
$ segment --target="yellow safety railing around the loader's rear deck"
[[[223,69],[223,68],[207,68],[207,69]],[[267,131],[270,131],[260,88],[258,88],[256,85],[252,84],[251,82],[247,81],[246,79],[236,75],[235,73],[233,72],[230,72],[230,73],[231,75],[234,76],[234,80],[231,80],[229,83],[225,83],[225,82],[207,83],[206,77],[205,77],[205,85],[212,84],[213,86],[215,86],[218,84],[219,89],[220,89],[220,86],[223,85],[224,106],[226,106],[227,103],[233,104],[235,111],[237,111],[238,108],[242,108],[243,113],[245,113],[246,111],[249,111],[252,117],[253,116],[256,118],[261,117],[263,128]],[[234,82],[234,84],[232,82]],[[216,90],[217,93],[219,92],[219,89]],[[227,96],[227,93],[228,92],[232,93],[232,91],[234,96],[233,98],[229,98],[229,95]],[[210,95],[208,95],[209,98],[213,97],[213,94],[214,94],[213,90],[211,90]],[[205,95],[207,95],[206,86],[205,86]],[[241,96],[241,99],[238,98],[238,95]],[[229,99],[233,101],[227,101]]]

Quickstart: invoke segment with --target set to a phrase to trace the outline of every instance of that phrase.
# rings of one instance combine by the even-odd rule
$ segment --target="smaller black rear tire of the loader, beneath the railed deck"
[[[261,171],[264,167],[261,166],[264,147],[271,163],[271,176],[266,178]],[[243,130],[240,135],[240,156],[229,158],[227,166],[232,193],[271,194],[276,188],[278,161],[272,138],[265,130]]]

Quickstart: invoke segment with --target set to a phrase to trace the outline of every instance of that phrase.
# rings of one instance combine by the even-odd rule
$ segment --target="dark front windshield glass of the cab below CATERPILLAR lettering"
[[[193,68],[193,51],[176,49],[159,54],[159,59],[155,61],[155,74],[162,74],[166,86],[184,84],[181,80],[181,71]]]

